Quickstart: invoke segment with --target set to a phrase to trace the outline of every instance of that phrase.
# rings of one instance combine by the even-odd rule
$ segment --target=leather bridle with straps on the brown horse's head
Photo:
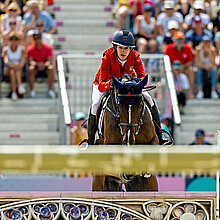
[[[144,117],[144,112],[145,112],[145,105],[142,101],[141,103],[141,114],[139,117],[139,120],[136,123],[132,123],[132,106],[135,104],[128,104],[128,122],[122,122],[121,118],[120,118],[120,111],[119,111],[119,101],[117,100],[117,97],[127,97],[126,94],[118,94],[115,91],[115,89],[111,90],[111,101],[112,101],[112,109],[108,106],[106,106],[106,110],[108,110],[116,119],[117,121],[117,125],[120,129],[120,133],[122,135],[123,138],[123,143],[125,143],[125,139],[126,139],[126,134],[127,134],[127,145],[130,145],[129,140],[130,140],[130,136],[131,133],[134,134],[134,143],[135,144],[135,138],[136,136],[139,134],[140,131],[140,127],[143,124],[143,117]],[[130,97],[142,97],[142,94],[130,94]],[[124,129],[124,127],[127,127],[126,129]],[[135,129],[133,129],[132,127],[134,127]]]

